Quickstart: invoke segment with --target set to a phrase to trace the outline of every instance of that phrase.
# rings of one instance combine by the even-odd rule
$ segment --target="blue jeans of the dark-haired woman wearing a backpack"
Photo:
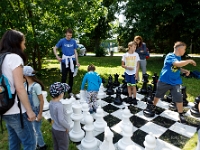
[[[35,150],[36,139],[32,123],[26,113],[22,114],[24,128],[21,127],[20,114],[3,115],[9,134],[9,150]]]

